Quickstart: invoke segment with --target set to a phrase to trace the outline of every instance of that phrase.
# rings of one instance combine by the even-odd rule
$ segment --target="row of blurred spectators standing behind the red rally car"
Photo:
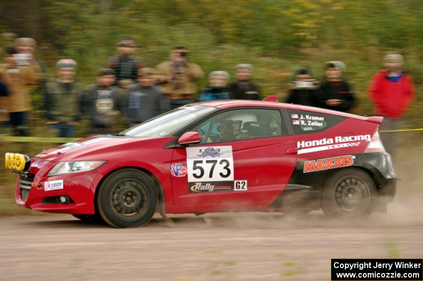
[[[87,133],[111,133],[118,116],[125,116],[133,126],[168,110],[196,101],[216,99],[260,99],[260,88],[253,82],[253,66],[235,66],[235,82],[230,74],[212,71],[208,87],[198,92],[196,82],[203,78],[201,67],[189,59],[189,50],[175,46],[169,58],[156,67],[146,67],[134,56],[134,40],[124,38],[117,44],[117,55],[99,69],[97,81],[84,87],[76,80],[78,63],[61,59],[56,76],[48,80],[43,62],[35,58],[37,44],[32,38],[17,38],[7,47],[0,65],[0,122],[7,124],[13,136],[28,136],[28,112],[31,93],[43,93],[46,125],[60,137],[74,137],[82,116],[89,116]],[[405,111],[413,100],[412,77],[403,71],[404,58],[390,54],[383,69],[371,79],[368,95],[374,113],[384,117],[381,129],[401,127]],[[317,82],[308,68],[300,68],[290,85],[285,102],[348,112],[356,102],[351,85],[345,80],[346,66],[341,61],[324,65],[324,79]],[[397,136],[383,139],[393,153]]]

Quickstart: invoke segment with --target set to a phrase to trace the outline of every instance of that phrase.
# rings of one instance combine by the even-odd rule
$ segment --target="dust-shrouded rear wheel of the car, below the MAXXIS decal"
[[[329,216],[366,217],[372,212],[375,197],[375,183],[366,172],[343,169],[323,188],[321,208]]]

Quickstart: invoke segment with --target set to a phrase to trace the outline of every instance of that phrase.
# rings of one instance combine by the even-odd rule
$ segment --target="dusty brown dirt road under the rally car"
[[[0,219],[0,280],[329,280],[331,258],[422,258],[423,222],[239,213],[113,229],[70,215]]]

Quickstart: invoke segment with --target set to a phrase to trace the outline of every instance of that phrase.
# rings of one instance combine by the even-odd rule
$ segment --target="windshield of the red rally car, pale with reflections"
[[[204,105],[185,105],[153,119],[142,122],[135,127],[129,128],[121,135],[131,137],[168,137],[175,136],[176,132],[192,121],[218,110],[215,107]]]

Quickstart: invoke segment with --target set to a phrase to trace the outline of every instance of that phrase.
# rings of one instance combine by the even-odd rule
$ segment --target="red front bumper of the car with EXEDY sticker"
[[[57,162],[45,161],[29,169],[28,173],[18,173],[16,182],[16,204],[36,211],[70,214],[94,214],[95,191],[103,175],[96,170],[47,177],[48,171]],[[34,166],[35,167],[35,166]],[[32,174],[31,172],[36,172]],[[45,190],[45,183],[63,180],[60,189]],[[61,203],[56,198],[68,196],[70,202]]]

